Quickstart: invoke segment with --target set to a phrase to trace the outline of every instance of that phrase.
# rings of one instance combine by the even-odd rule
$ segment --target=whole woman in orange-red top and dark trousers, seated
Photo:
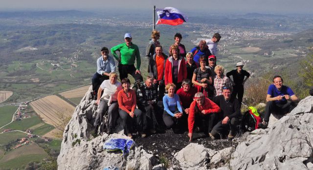
[[[139,109],[136,109],[136,94],[133,89],[130,89],[131,81],[128,78],[123,78],[121,83],[123,89],[118,92],[117,100],[119,116],[123,120],[124,134],[130,138],[133,137],[132,119],[136,118],[138,134],[144,138],[146,134],[143,133],[143,115]]]

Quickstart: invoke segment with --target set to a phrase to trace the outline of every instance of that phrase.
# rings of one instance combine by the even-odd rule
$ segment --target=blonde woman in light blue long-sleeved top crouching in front
[[[163,121],[168,128],[173,128],[174,133],[183,132],[186,127],[186,116],[182,114],[182,108],[179,101],[179,96],[174,94],[175,84],[168,83],[165,90],[168,94],[163,97],[164,114]]]

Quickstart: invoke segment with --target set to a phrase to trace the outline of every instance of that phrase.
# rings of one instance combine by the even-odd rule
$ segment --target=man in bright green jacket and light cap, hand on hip
[[[135,80],[140,79],[142,81],[142,76],[139,71],[141,60],[138,46],[132,43],[132,35],[130,33],[126,33],[124,39],[125,43],[111,48],[114,58],[119,63],[119,77],[122,80],[123,78],[127,78],[128,74],[131,74]],[[116,51],[119,51],[120,58],[117,56]],[[134,66],[135,59],[137,61],[136,68]]]

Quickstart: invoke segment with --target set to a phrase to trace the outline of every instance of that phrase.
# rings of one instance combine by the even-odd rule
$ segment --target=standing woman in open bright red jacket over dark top
[[[179,89],[182,80],[187,77],[186,62],[184,57],[179,56],[178,46],[172,45],[170,49],[170,57],[167,58],[165,63],[164,81],[165,85],[174,83]]]

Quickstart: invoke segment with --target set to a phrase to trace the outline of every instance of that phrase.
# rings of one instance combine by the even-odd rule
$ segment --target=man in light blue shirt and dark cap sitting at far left
[[[110,73],[115,72],[115,62],[112,56],[109,56],[109,49],[103,47],[101,56],[97,59],[97,72],[93,74],[91,96],[97,99],[98,89],[104,80],[108,80]]]

